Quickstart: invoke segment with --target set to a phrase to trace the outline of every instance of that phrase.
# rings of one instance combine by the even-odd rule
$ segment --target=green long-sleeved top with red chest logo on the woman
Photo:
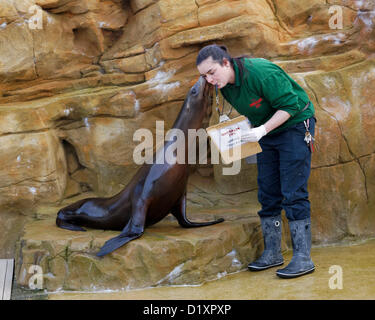
[[[235,83],[228,83],[220,91],[225,100],[246,116],[254,127],[267,122],[277,110],[284,110],[291,117],[271,134],[314,115],[314,106],[306,92],[278,65],[262,58],[245,58],[244,67],[241,81],[234,62]],[[309,101],[309,107],[301,112]]]

